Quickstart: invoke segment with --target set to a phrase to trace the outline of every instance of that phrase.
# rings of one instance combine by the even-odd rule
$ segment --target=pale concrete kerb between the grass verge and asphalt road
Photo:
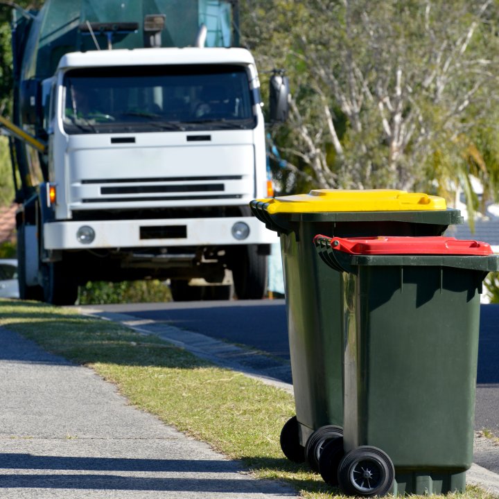
[[[278,387],[293,394],[292,384],[281,379],[290,378],[290,365],[283,360],[274,360],[271,356],[255,352],[236,345],[215,340],[207,335],[185,331],[170,324],[161,324],[152,320],[139,320],[131,315],[122,313],[104,312],[98,308],[80,309],[84,315],[97,316],[112,322],[119,322],[142,334],[154,334],[159,338],[171,342],[182,349],[190,351],[195,356],[209,360],[220,367],[239,371],[250,378]],[[279,376],[280,379],[277,378]],[[498,446],[486,437],[475,432],[475,456],[482,457],[498,454]],[[485,458],[487,461],[487,457]],[[466,482],[475,484],[499,497],[499,475],[488,469],[473,464],[466,473]]]

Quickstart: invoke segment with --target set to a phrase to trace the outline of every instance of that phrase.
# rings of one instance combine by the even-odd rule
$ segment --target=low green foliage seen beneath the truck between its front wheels
[[[162,281],[89,282],[80,287],[80,305],[171,301],[170,288]]]

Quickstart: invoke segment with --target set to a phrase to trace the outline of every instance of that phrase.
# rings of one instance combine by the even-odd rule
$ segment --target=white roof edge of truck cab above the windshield
[[[254,58],[249,51],[239,48],[119,49],[70,52],[62,56],[58,69],[152,64],[254,64]]]

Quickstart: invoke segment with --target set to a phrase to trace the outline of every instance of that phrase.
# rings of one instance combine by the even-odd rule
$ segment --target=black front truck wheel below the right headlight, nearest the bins
[[[232,277],[238,299],[262,299],[267,291],[267,255],[259,254],[256,245],[241,247]]]

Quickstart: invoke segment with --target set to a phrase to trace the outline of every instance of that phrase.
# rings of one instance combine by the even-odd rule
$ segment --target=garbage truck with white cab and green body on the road
[[[259,76],[234,0],[46,0],[13,10],[19,291],[170,279],[173,299],[259,299],[275,235]],[[270,78],[270,114],[288,81]],[[229,281],[230,282],[230,281]],[[202,286],[193,286],[202,283]],[[208,295],[206,294],[209,291]],[[204,294],[202,294],[204,293]]]

